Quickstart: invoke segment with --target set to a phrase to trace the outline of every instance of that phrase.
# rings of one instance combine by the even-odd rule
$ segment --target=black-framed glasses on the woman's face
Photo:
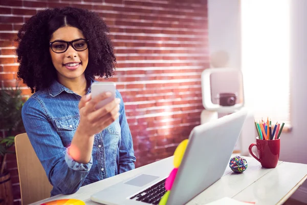
[[[88,43],[89,40],[79,38],[72,40],[71,42],[65,42],[65,40],[55,40],[54,42],[49,43],[49,46],[55,53],[64,53],[67,51],[69,45],[71,45],[76,51],[84,51],[89,47]]]

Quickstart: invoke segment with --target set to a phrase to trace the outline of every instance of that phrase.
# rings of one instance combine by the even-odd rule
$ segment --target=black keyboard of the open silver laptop
[[[142,201],[145,203],[150,204],[159,204],[162,196],[165,194],[166,190],[164,188],[165,180],[156,183],[155,185],[149,187],[148,189],[144,190],[143,192],[140,192],[130,199]]]

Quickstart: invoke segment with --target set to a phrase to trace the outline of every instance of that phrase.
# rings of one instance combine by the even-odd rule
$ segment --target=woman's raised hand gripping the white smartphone
[[[92,99],[91,94],[84,95],[79,102],[80,123],[77,132],[83,136],[93,136],[111,125],[119,116],[120,99],[96,110],[96,105],[103,99],[110,97],[111,93],[102,93]]]

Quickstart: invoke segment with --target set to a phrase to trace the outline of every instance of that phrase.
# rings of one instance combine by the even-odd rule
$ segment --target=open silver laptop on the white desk
[[[247,113],[242,109],[193,128],[167,205],[187,203],[223,176]],[[93,194],[91,200],[107,205],[159,204],[172,158]]]

